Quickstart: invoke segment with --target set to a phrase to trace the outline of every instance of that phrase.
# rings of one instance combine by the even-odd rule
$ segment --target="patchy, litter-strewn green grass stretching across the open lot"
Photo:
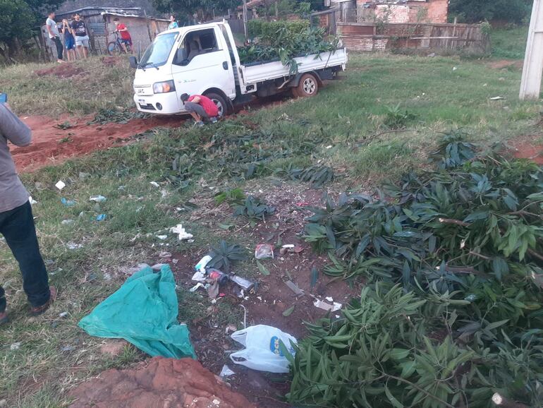
[[[33,72],[44,66],[6,68],[0,88],[7,87],[19,114],[86,114],[101,107],[129,106],[130,71],[101,64],[99,59],[78,63],[87,71],[73,79],[37,78]],[[190,212],[176,211],[190,198],[198,204],[226,186],[243,188],[251,164],[257,164],[255,176],[263,185],[286,182],[274,177],[278,169],[318,162],[341,175],[333,188],[373,188],[424,166],[440,132],[451,128],[462,128],[480,143],[537,134],[541,104],[518,101],[519,85],[520,71],[493,70],[481,61],[351,54],[343,78],[317,97],[285,100],[202,129],[183,124],[159,130],[148,143],[95,152],[24,174],[25,185],[38,201],[36,224],[44,258],[50,260],[51,282],[61,292],[43,318],[28,318],[18,268],[0,241],[0,282],[8,289],[13,318],[0,330],[0,400],[6,398],[10,407],[59,407],[67,402],[66,391],[85,378],[144,358],[133,347],[116,358],[104,356],[99,352],[102,339],[85,335],[77,323],[119,287],[123,267],[152,263],[164,250],[202,253],[219,241],[215,220],[193,222]],[[489,100],[496,95],[506,99]],[[393,131],[384,121],[398,103],[414,116],[405,129]],[[90,176],[80,178],[80,172]],[[53,187],[59,179],[68,181],[62,192]],[[108,198],[100,208],[88,201],[96,194]],[[65,207],[62,197],[77,204]],[[94,221],[98,213],[106,213],[108,219]],[[236,222],[231,213],[224,217]],[[62,224],[68,219],[73,223]],[[195,243],[181,244],[173,236],[157,239],[178,223],[195,234]],[[228,241],[254,244],[239,233],[229,233]],[[71,250],[69,243],[83,247]],[[252,261],[246,265],[255,266]],[[180,320],[190,324],[207,314],[205,297],[183,288],[178,294]],[[68,317],[60,318],[64,311]],[[237,313],[223,312],[217,324],[239,323]],[[16,342],[21,342],[20,348],[11,350]]]

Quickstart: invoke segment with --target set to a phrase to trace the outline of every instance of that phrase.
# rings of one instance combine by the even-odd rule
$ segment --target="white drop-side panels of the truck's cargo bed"
[[[307,56],[298,56],[295,58],[298,62],[298,71],[300,73],[317,71],[331,66],[343,66],[347,64],[347,49],[336,49],[335,52],[322,52],[321,54],[310,54]],[[284,66],[281,61],[266,62],[250,66],[240,66],[243,82],[247,84],[259,83],[264,80],[283,78],[288,76],[288,66]]]

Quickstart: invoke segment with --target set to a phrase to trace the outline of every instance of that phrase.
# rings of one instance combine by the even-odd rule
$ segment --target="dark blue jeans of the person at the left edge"
[[[30,202],[13,210],[0,212],[0,234],[6,238],[6,243],[19,263],[28,301],[33,307],[44,305],[51,292],[47,270],[39,253]],[[5,310],[6,296],[4,288],[0,286],[0,313]]]

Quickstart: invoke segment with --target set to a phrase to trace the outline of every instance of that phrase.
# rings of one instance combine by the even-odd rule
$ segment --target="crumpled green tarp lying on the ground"
[[[151,356],[196,358],[186,325],[177,321],[176,282],[168,265],[129,277],[79,327],[92,336],[122,338]]]

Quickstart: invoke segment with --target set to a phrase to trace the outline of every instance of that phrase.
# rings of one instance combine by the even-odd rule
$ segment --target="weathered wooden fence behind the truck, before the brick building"
[[[489,52],[482,25],[434,23],[337,23],[343,45],[354,51]]]

